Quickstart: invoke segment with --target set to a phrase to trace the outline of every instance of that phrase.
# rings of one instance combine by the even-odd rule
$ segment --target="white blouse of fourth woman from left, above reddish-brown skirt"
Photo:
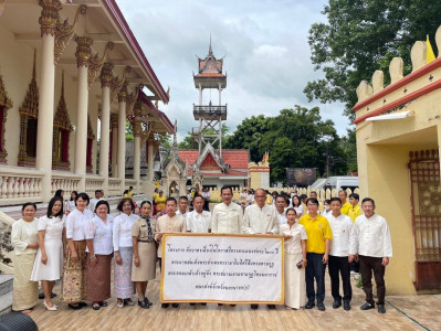
[[[93,239],[95,254],[108,255],[114,252],[112,229],[113,217],[107,216],[106,224],[98,216],[88,222],[86,239]],[[88,252],[88,247],[86,252]]]

